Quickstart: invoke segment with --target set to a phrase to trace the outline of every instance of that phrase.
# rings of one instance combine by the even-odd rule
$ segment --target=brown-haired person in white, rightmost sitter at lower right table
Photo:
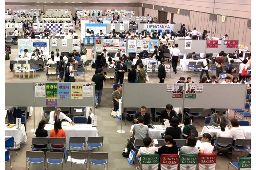
[[[237,119],[231,119],[230,122],[232,126],[230,129],[230,137],[234,138],[233,146],[235,146],[236,139],[245,139],[246,132],[239,126]]]

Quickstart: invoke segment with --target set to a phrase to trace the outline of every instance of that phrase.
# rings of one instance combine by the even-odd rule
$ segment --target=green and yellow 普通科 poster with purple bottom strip
[[[58,83],[46,83],[46,106],[58,106]]]

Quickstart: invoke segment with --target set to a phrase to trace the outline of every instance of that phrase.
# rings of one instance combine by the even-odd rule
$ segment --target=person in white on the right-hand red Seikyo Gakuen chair
[[[201,143],[198,154],[211,154],[214,149],[214,140],[212,136],[209,133],[204,133],[200,142]]]

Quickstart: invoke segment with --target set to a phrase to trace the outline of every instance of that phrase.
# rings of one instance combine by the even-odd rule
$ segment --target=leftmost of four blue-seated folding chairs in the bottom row
[[[43,170],[44,170],[44,151],[26,151],[26,169],[27,169],[27,162],[29,162],[28,169],[30,167],[30,163],[38,164],[43,162]]]

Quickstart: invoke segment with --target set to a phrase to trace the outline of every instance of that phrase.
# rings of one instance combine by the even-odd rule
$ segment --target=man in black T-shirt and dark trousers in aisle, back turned
[[[102,72],[102,68],[98,68],[98,73],[94,74],[92,76],[92,82],[95,83],[95,108],[97,108],[100,105],[101,102],[101,95],[103,90],[103,81],[106,80],[106,77],[104,75],[104,72]]]

